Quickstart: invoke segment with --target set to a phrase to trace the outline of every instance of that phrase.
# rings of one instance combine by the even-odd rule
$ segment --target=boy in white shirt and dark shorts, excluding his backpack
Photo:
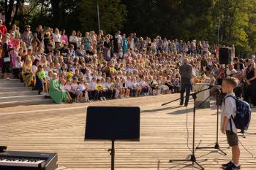
[[[238,80],[233,77],[227,78],[222,82],[222,92],[227,93],[227,95],[222,104],[221,129],[222,134],[226,134],[227,143],[232,148],[232,160],[229,163],[222,164],[222,168],[227,170],[240,170],[240,149],[238,146],[238,136],[236,134],[237,129],[233,118],[231,118],[236,117],[236,96],[233,93],[233,89],[236,88],[237,83]]]

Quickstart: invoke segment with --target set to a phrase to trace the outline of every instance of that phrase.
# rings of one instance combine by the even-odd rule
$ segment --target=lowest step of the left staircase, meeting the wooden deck
[[[31,99],[31,100],[20,100],[20,101],[7,101],[0,102],[0,108],[3,107],[16,107],[16,106],[28,106],[28,105],[39,105],[39,104],[53,104],[52,99]]]

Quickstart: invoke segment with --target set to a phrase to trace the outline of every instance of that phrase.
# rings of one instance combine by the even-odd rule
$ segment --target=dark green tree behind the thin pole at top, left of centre
[[[77,7],[82,31],[97,31],[97,1],[78,1]],[[105,32],[121,29],[126,15],[126,7],[120,0],[99,0],[100,27]]]

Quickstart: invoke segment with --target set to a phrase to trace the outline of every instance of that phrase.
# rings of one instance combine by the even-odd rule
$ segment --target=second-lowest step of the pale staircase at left
[[[7,96],[7,97],[0,97],[1,102],[7,101],[26,101],[26,100],[36,100],[36,99],[45,99],[43,95],[33,95],[33,96]]]

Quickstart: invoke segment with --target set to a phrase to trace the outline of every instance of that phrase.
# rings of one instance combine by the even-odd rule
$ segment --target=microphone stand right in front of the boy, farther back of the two
[[[227,155],[227,153],[225,153],[223,150],[221,150],[222,148],[224,149],[228,149],[229,147],[219,147],[219,93],[221,93],[221,91],[219,90],[219,88],[216,89],[216,93],[217,93],[217,130],[216,130],[216,143],[214,145],[214,147],[196,147],[196,149],[198,150],[203,150],[203,149],[215,149],[215,150],[219,150],[220,152],[222,152],[223,155]],[[211,95],[208,97],[210,98]],[[208,99],[206,98],[206,100]],[[204,102],[204,101],[203,101]],[[203,104],[203,102],[201,104]],[[200,104],[200,105],[201,105]],[[199,105],[199,107],[200,107]]]

